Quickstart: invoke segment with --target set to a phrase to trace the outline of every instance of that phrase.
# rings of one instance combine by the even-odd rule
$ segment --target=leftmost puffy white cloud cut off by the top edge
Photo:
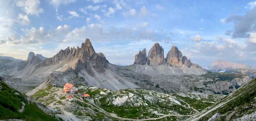
[[[39,13],[43,13],[44,9],[40,8],[39,0],[17,0],[16,5],[20,7],[20,9],[25,12],[27,15],[39,15]]]

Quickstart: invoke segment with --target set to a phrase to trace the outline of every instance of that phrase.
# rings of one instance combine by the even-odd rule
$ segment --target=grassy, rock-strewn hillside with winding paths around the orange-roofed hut
[[[93,86],[79,86],[74,101],[67,100],[62,88],[50,85],[38,90],[31,98],[59,111],[65,120],[160,120],[180,121],[205,109],[223,95],[207,94],[166,94],[144,89],[125,89],[112,91]],[[82,99],[81,94],[89,93],[90,99]],[[67,114],[61,115],[61,114]]]

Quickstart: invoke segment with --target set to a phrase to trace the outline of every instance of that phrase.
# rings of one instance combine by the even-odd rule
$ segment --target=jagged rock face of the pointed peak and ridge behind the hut
[[[92,70],[102,73],[109,63],[103,53],[95,52],[90,39],[87,38],[85,42],[82,43],[81,48],[77,46],[77,48],[73,47],[69,49],[69,47],[67,47],[65,50],[60,50],[59,53],[52,58],[46,58],[42,63],[39,63],[37,68],[55,65],[61,61],[68,63],[72,60],[76,60],[71,67],[76,73],[85,69],[87,73],[90,73],[92,76],[94,76]]]

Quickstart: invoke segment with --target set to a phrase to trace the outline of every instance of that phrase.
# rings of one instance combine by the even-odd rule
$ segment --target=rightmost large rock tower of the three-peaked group
[[[165,60],[169,66],[181,67],[182,53],[176,46],[172,46],[171,50],[167,53]]]

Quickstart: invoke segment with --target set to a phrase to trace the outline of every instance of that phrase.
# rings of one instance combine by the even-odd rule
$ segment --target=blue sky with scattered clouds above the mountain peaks
[[[256,66],[256,1],[0,0],[0,56],[51,58],[90,38],[110,63],[172,46],[202,67],[215,60]]]

